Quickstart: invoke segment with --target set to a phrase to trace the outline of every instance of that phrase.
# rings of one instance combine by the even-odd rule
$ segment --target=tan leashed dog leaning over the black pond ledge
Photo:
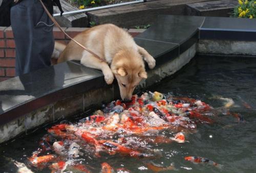
[[[67,46],[55,42],[53,57],[58,57],[57,63],[80,60],[84,66],[101,70],[107,84],[112,84],[115,77],[124,101],[130,100],[135,87],[147,78],[143,59],[151,69],[156,64],[155,59],[137,45],[129,33],[114,24],[95,26],[79,33],[74,39],[105,62],[70,41]]]

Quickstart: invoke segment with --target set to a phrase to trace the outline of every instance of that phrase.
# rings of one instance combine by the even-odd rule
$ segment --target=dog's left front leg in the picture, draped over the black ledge
[[[101,70],[103,72],[106,83],[112,84],[114,80],[114,74],[106,62],[99,60],[89,53],[83,53],[81,64],[90,68]]]

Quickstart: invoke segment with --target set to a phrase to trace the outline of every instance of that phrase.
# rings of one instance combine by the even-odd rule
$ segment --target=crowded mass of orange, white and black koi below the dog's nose
[[[152,160],[161,157],[161,151],[151,146],[187,142],[186,136],[196,133],[200,123],[214,122],[212,116],[215,113],[214,108],[194,98],[173,97],[159,92],[133,95],[130,102],[113,101],[77,123],[52,126],[41,138],[38,150],[28,158],[29,164],[39,170],[49,168],[52,172],[94,172],[77,158],[91,156],[101,159],[102,155],[117,155],[141,159],[145,167],[154,172],[176,170],[173,164],[163,167],[154,163]],[[241,115],[234,116],[243,120]],[[163,131],[172,133],[173,137],[159,135]],[[219,166],[201,157],[186,156],[184,159]],[[130,170],[114,168],[102,161],[101,172]]]

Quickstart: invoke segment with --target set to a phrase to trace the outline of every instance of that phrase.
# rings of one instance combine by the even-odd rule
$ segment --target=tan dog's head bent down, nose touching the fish
[[[135,87],[147,78],[143,59],[136,52],[121,51],[116,54],[111,69],[117,79],[122,100],[131,100]]]

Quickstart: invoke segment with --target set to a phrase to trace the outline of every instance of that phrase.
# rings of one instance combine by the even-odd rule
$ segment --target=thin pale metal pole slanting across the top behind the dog
[[[101,9],[112,8],[112,7],[125,6],[125,5],[130,5],[130,4],[138,4],[138,3],[144,3],[144,2],[146,2],[146,0],[138,0],[138,1],[133,1],[133,2],[113,4],[113,5],[102,6],[102,7],[94,7],[94,8],[88,8],[88,9],[82,9],[82,10],[69,11],[69,12],[62,13],[62,15],[77,14],[77,13],[101,10]],[[60,16],[60,13],[53,14],[53,16],[54,17],[55,16]]]

